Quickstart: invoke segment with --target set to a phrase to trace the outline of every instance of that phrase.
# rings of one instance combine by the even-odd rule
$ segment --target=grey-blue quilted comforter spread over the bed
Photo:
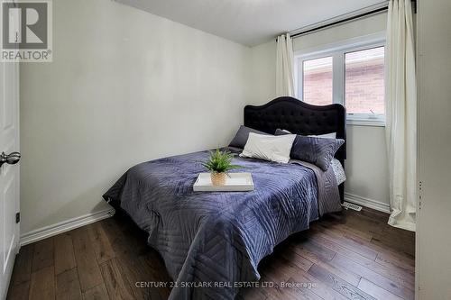
[[[207,156],[202,151],[139,164],[104,195],[149,232],[149,244],[175,282],[170,299],[233,299],[235,283],[260,278],[258,263],[275,245],[308,229],[320,214],[340,210],[335,177],[302,162],[237,157],[244,166],[239,171],[253,174],[253,192],[193,192],[204,171],[198,161]]]

